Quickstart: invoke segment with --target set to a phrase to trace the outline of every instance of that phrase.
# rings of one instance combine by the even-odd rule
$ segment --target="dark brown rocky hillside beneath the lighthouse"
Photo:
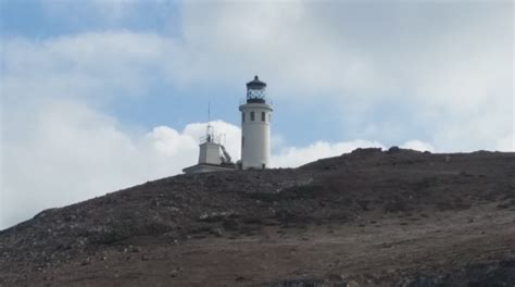
[[[0,286],[515,286],[515,153],[179,175],[0,232]]]

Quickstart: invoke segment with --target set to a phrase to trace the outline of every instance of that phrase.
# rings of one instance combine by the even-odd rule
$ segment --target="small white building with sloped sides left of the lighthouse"
[[[234,171],[236,165],[231,162],[229,153],[221,144],[219,136],[215,136],[213,127],[208,125],[205,137],[200,139],[199,163],[183,170],[184,173],[206,173]]]

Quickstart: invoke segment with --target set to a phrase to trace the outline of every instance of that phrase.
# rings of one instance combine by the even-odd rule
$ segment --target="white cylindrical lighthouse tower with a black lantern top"
[[[247,99],[241,111],[240,167],[266,169],[271,158],[272,102],[266,98],[266,83],[258,76],[247,83]]]

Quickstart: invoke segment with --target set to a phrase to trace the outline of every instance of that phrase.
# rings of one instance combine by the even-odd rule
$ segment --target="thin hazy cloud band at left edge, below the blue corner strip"
[[[85,33],[42,41],[10,38],[1,59],[3,100],[106,102],[135,97],[162,80],[161,61],[172,51],[169,39],[150,33]]]

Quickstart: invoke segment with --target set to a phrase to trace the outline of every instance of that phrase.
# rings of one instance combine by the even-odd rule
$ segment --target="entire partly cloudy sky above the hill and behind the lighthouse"
[[[273,166],[359,147],[514,151],[513,5],[0,0],[0,229],[180,173],[208,121],[239,159],[254,75]]]

